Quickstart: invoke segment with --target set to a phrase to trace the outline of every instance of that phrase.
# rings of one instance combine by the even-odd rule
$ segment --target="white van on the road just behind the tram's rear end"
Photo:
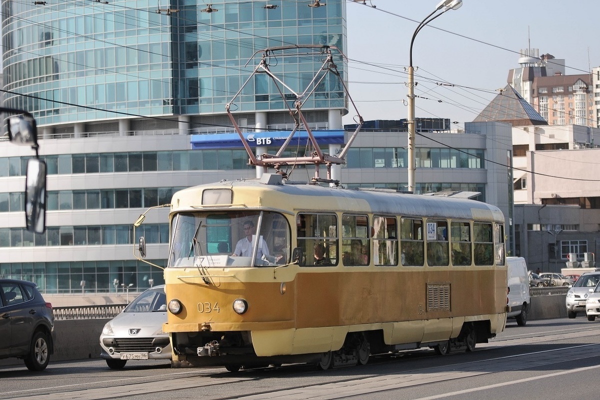
[[[515,318],[519,326],[524,326],[527,323],[527,311],[531,304],[527,263],[523,257],[506,257],[506,265],[508,266],[506,318]]]

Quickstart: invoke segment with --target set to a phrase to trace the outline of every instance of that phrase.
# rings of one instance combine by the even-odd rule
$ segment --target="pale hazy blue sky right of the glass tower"
[[[349,92],[365,121],[407,118],[410,39],[438,2],[347,0]],[[599,67],[599,11],[598,0],[463,0],[416,35],[416,118],[449,118],[464,128],[506,86],[528,47],[565,59],[567,75]],[[344,124],[354,123],[350,109]]]

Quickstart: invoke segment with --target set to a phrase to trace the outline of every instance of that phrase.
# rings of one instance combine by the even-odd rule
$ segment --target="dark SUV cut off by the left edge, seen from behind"
[[[54,353],[54,317],[33,282],[0,279],[0,359],[17,357],[42,371]]]

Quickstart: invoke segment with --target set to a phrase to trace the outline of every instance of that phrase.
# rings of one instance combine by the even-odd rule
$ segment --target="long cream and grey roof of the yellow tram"
[[[206,189],[231,188],[234,192],[233,203],[238,203],[240,195],[248,193],[243,207],[289,209],[290,211],[345,211],[373,212],[383,215],[414,215],[440,218],[482,219],[504,222],[502,211],[491,204],[469,199],[452,197],[407,194],[393,191],[358,190],[332,188],[320,185],[293,183],[265,183],[268,179],[248,179],[242,181],[221,181],[215,184],[200,185],[187,188],[173,195],[182,201],[178,209],[184,209],[185,203],[201,201],[197,191]],[[282,196],[273,196],[272,193]],[[271,195],[269,195],[271,193]],[[297,201],[287,201],[285,196],[292,196]],[[317,198],[317,199],[315,199]],[[176,203],[173,201],[173,203]],[[189,204],[195,208],[194,204]],[[197,204],[200,205],[200,204]],[[235,204],[232,205],[235,207]],[[219,207],[223,209],[223,207]]]

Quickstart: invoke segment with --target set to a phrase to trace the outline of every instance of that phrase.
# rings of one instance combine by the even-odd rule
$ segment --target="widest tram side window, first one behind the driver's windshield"
[[[338,229],[335,214],[298,214],[298,247],[301,266],[334,266],[338,263]]]

